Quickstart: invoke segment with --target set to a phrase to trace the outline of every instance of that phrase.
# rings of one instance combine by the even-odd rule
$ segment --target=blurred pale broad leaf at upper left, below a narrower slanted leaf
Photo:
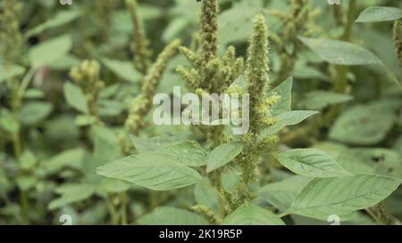
[[[72,38],[69,35],[58,36],[34,46],[29,51],[29,61],[34,68],[51,64],[70,52]]]

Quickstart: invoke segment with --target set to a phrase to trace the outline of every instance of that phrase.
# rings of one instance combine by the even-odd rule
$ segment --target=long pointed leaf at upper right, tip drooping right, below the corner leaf
[[[314,39],[300,36],[299,39],[323,60],[336,65],[381,64],[381,61],[363,47],[339,40]]]

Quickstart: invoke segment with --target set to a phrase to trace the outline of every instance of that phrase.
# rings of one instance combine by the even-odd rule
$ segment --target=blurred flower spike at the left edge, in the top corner
[[[15,62],[21,53],[22,36],[19,16],[22,4],[17,0],[3,0],[0,2],[0,53],[7,63]]]

